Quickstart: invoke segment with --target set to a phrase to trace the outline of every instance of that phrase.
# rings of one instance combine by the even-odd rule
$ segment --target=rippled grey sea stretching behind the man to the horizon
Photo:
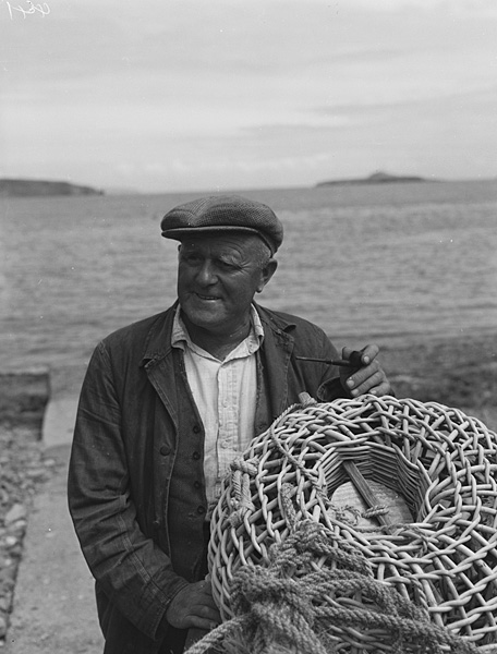
[[[258,302],[338,348],[496,334],[497,180],[235,193],[283,223]],[[48,368],[56,396],[77,393],[101,338],[174,301],[160,219],[207,194],[0,198],[0,372]]]

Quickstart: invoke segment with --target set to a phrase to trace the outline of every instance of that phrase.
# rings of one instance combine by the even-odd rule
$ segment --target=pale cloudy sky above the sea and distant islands
[[[496,0],[0,0],[0,178],[497,177]]]

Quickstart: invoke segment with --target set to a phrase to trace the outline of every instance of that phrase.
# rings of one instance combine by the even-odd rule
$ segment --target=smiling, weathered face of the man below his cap
[[[276,269],[271,262],[262,267],[256,235],[226,232],[184,240],[178,298],[187,320],[217,337],[244,329],[254,294]]]

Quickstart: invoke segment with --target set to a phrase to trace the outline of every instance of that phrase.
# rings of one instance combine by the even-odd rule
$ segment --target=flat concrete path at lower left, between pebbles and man
[[[100,654],[94,580],[68,509],[70,446],[48,453],[58,470],[29,511],[5,654]]]

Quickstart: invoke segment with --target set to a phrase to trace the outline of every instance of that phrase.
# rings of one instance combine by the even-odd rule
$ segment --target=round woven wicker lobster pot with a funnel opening
[[[399,494],[411,519],[361,528],[334,499],[350,480],[348,461],[369,483]],[[294,405],[232,469],[213,514],[209,545],[213,593],[223,620],[233,617],[238,571],[268,568],[295,525],[316,523],[334,547],[363,557],[375,582],[421,608],[429,625],[478,649],[497,642],[497,436],[477,419],[392,397]],[[329,566],[332,572],[338,564],[325,559],[313,568]],[[372,608],[356,588],[327,593],[320,604],[322,614],[327,605]],[[348,644],[393,651],[388,629],[330,622],[327,630],[340,651],[350,651]]]

